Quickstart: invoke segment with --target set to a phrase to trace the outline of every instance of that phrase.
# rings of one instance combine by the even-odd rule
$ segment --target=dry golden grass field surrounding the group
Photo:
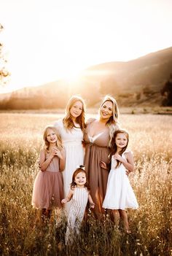
[[[128,211],[132,233],[115,230],[89,214],[73,247],[66,248],[66,221],[55,213],[41,225],[31,206],[44,126],[60,115],[0,114],[0,255],[171,255],[172,117],[121,115],[130,133],[136,168],[130,182],[139,209]],[[89,117],[89,115],[88,115]]]

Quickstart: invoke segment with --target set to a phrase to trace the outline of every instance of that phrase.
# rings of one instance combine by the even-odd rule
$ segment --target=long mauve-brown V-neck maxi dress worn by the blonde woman
[[[91,122],[93,123],[94,120]],[[91,123],[87,124],[85,130],[85,171],[87,171],[88,181],[90,183],[90,195],[95,203],[93,212],[95,217],[101,217],[103,200],[106,195],[106,185],[109,171],[101,168],[100,161],[109,162],[109,127],[90,137]]]

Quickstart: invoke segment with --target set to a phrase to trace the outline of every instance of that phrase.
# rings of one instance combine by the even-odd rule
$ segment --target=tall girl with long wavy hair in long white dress
[[[83,165],[84,147],[82,145],[85,131],[85,102],[79,96],[72,96],[66,106],[63,120],[55,122],[60,133],[63,147],[66,150],[66,168],[63,171],[64,196],[69,193],[71,179],[77,166]],[[69,213],[68,204],[66,216]]]

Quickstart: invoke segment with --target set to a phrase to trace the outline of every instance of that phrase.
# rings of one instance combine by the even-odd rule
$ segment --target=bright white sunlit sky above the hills
[[[172,46],[171,0],[0,0],[7,93]]]

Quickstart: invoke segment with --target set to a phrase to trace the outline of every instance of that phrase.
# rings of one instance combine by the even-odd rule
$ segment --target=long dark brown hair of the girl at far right
[[[117,138],[117,134],[119,133],[124,133],[126,138],[128,139],[129,141],[129,134],[128,134],[128,131],[125,131],[125,130],[117,130],[114,132],[114,136],[112,137],[112,142],[111,142],[111,146],[110,146],[110,155],[109,155],[109,159],[111,160],[112,159],[112,155],[114,155],[116,152],[117,152],[117,144],[116,144],[116,138]],[[125,152],[125,150],[127,149],[128,147],[128,142],[126,144],[125,147],[122,148],[122,150],[119,152],[119,155],[122,155],[123,152]],[[117,166],[120,166],[121,162],[119,160],[117,160]]]

